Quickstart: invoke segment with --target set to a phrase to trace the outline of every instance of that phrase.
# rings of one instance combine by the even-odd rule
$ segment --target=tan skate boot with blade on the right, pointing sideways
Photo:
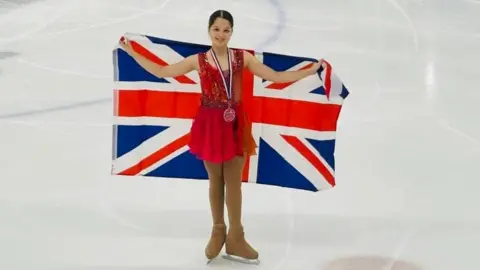
[[[227,253],[223,256],[225,259],[247,264],[258,265],[260,263],[258,252],[245,240],[243,227],[231,229],[228,232],[225,247]]]

